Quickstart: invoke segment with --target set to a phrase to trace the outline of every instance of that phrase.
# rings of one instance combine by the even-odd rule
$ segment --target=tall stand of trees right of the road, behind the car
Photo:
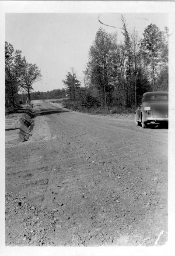
[[[96,33],[84,71],[84,95],[73,69],[63,80],[74,106],[76,100],[84,106],[90,100],[90,106],[96,102],[105,110],[132,108],[140,104],[144,92],[168,91],[168,28],[162,32],[151,23],[140,38],[135,29],[128,31],[123,16],[121,19],[123,42],[118,41],[117,33],[103,28]]]

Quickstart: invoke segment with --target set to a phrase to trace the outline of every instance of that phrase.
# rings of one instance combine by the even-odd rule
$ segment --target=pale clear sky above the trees
[[[33,84],[34,91],[64,88],[62,80],[71,68],[83,85],[83,71],[98,28],[117,32],[118,40],[123,40],[121,14],[128,30],[135,28],[140,36],[151,22],[160,30],[168,26],[164,13],[6,13],[5,40],[41,70],[42,80]],[[100,24],[98,16],[117,28]]]

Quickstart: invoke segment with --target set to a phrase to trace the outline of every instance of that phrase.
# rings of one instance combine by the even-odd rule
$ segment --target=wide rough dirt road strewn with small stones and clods
[[[6,145],[7,245],[165,244],[168,129],[63,109],[34,121]]]

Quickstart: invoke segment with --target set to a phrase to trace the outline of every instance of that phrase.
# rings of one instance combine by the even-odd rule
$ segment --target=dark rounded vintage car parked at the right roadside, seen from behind
[[[147,128],[149,124],[168,123],[168,92],[145,92],[141,108],[136,110],[135,123]]]

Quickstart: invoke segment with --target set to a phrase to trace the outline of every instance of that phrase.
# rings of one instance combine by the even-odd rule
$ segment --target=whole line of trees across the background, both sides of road
[[[147,91],[168,91],[168,28],[160,31],[151,23],[140,38],[136,29],[128,31],[123,16],[121,20],[123,41],[118,40],[117,33],[99,28],[89,49],[83,80],[71,68],[62,80],[66,89],[31,92],[33,83],[42,77],[41,71],[5,42],[6,106],[16,107],[19,99],[24,102],[26,97],[38,100],[68,94],[67,101],[74,108],[101,107],[107,111],[137,107]]]

